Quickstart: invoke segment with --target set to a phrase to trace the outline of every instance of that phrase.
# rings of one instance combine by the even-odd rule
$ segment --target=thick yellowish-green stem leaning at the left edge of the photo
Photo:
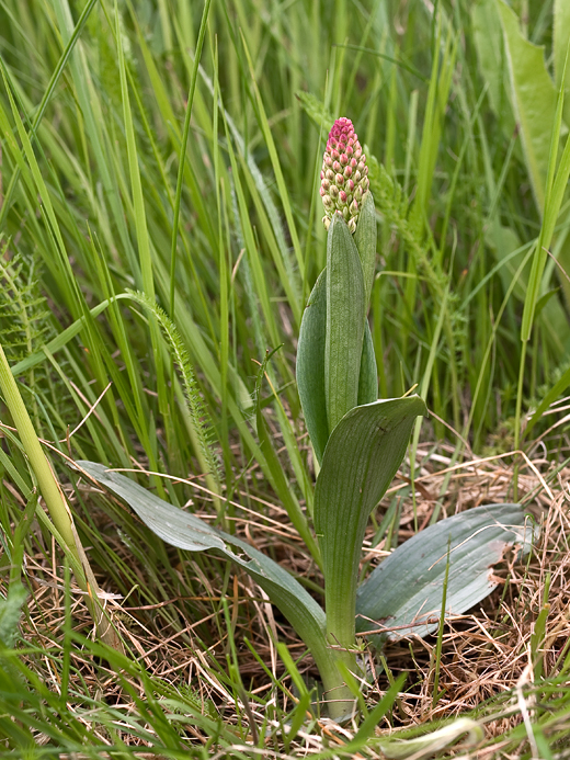
[[[89,566],[86,553],[73,526],[71,512],[65,500],[64,494],[56,479],[54,470],[42,450],[39,439],[35,432],[30,415],[12,375],[10,365],[0,344],[0,390],[4,397],[8,409],[16,427],[20,440],[34,472],[39,491],[44,497],[49,515],[53,520],[66,554],[70,555],[71,564],[84,574],[76,570],[78,586],[87,593],[86,601],[89,611],[95,622],[100,638],[115,649],[119,648],[115,634],[105,617],[99,602],[99,587]]]

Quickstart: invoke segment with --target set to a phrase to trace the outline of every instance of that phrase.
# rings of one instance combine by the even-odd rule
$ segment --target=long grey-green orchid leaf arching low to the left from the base
[[[324,639],[324,613],[303,586],[277,563],[241,538],[224,533],[146,490],[129,478],[94,462],[77,462],[104,488],[124,499],[162,541],[189,552],[214,549],[242,567],[269,594],[311,650],[321,674],[331,670],[333,653]],[[233,548],[238,549],[237,552]]]

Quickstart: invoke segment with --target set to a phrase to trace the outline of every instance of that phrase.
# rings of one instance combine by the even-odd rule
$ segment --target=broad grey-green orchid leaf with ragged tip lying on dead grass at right
[[[358,588],[357,629],[378,627],[391,639],[433,633],[449,540],[446,613],[457,615],[497,588],[493,565],[509,546],[529,551],[533,528],[518,504],[477,507],[430,525],[392,552]]]

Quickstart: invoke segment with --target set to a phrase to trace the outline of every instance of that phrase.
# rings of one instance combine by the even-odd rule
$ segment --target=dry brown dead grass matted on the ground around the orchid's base
[[[453,465],[452,452],[445,446],[423,444],[419,452],[417,472],[417,514],[420,528],[425,526],[436,506],[441,515],[451,515],[483,503],[509,501],[512,499],[513,456],[501,455],[487,460],[470,460],[460,465]],[[547,576],[550,577],[548,594],[548,617],[546,636],[542,646],[543,673],[556,677],[568,654],[570,634],[570,552],[568,534],[570,532],[570,492],[567,484],[570,480],[570,468],[561,469],[556,477],[550,477],[552,465],[546,460],[523,460],[518,477],[520,494],[526,507],[540,523],[540,537],[529,562],[524,564],[508,557],[501,567],[495,568],[500,579],[498,589],[469,614],[454,617],[445,627],[440,671],[440,691],[442,695],[434,702],[433,687],[435,676],[435,637],[425,640],[410,639],[386,647],[384,656],[392,677],[408,672],[407,691],[400,694],[397,710],[392,716],[392,727],[413,727],[434,719],[449,718],[478,710],[480,719],[486,723],[487,739],[499,739],[498,744],[481,747],[477,757],[516,756],[518,751],[512,742],[505,744],[504,737],[522,721],[520,699],[527,694],[535,679],[536,662],[532,662],[531,636],[537,615],[543,609],[543,597]],[[397,479],[390,488],[385,502],[399,490],[406,489],[409,480]],[[92,487],[86,485],[83,491],[89,495]],[[251,490],[248,498],[256,501],[259,513],[241,508],[236,511],[237,531],[258,549],[271,552],[272,556],[290,569],[316,585],[321,585],[318,570],[308,558],[301,543],[288,524],[284,510],[275,503],[256,497]],[[237,503],[247,500],[243,495],[236,495]],[[251,503],[251,501],[250,501]],[[96,504],[96,499],[93,500]],[[378,508],[381,518],[383,506]],[[202,502],[197,513],[208,518],[210,506]],[[413,508],[411,498],[403,503],[400,523],[399,542],[413,533]],[[383,544],[372,546],[373,531],[363,547],[363,564],[378,562],[383,554]],[[107,537],[109,541],[109,532]],[[126,545],[118,536],[113,549],[126,562],[132,560]],[[46,560],[50,557],[50,562]],[[153,677],[168,681],[176,688],[191,687],[200,695],[203,710],[212,710],[212,704],[224,716],[228,724],[236,724],[238,718],[235,695],[226,685],[217,660],[225,669],[225,655],[228,651],[228,632],[219,605],[221,587],[208,577],[192,557],[187,555],[189,567],[193,578],[201,583],[202,593],[197,595],[172,594],[156,604],[140,603],[136,592],[124,602],[121,594],[114,595],[117,589],[109,588],[109,579],[101,577],[101,587],[110,593],[107,606],[112,611],[118,632],[146,669]],[[61,626],[64,621],[64,592],[61,568],[55,545],[46,553],[26,557],[26,572],[33,588],[27,614],[23,621],[23,634],[52,655],[61,647]],[[180,568],[181,570],[183,568]],[[274,640],[287,644],[294,658],[304,653],[304,646],[295,632],[280,613],[269,603],[263,592],[252,583],[249,577],[231,570],[231,582],[226,599],[231,615],[233,636],[239,653],[241,678],[250,693],[250,704],[243,705],[244,715],[250,722],[252,736],[259,730],[266,716],[264,700],[273,693],[283,710],[293,707],[294,697],[287,697],[274,689],[272,679],[284,676],[284,667],[277,657]],[[150,582],[144,568],[140,571],[141,582]],[[182,575],[181,575],[182,578]],[[191,602],[195,610],[201,610],[198,620],[186,620],[182,602]],[[214,604],[214,611],[213,611]],[[91,623],[79,592],[73,593],[73,621],[77,629],[89,634]],[[168,609],[176,612],[181,621],[179,626],[164,625],[161,611]],[[170,617],[169,620],[172,620]],[[210,644],[205,647],[196,638],[196,631],[209,631]],[[202,634],[201,634],[202,635]],[[251,643],[255,655],[244,644]],[[375,657],[374,653],[367,655]],[[116,684],[114,674],[105,676],[104,668],[94,665],[88,655],[76,650],[73,666],[81,673],[83,684],[77,689],[87,689],[91,696],[103,696],[107,704],[133,710],[125,702],[125,694]],[[59,690],[59,676],[54,669],[53,657],[36,659],[34,668],[43,673],[44,680],[55,691]],[[299,662],[299,668],[309,679],[317,679],[318,673],[308,655]],[[292,684],[284,681],[287,688]],[[570,683],[570,682],[569,682]],[[137,684],[140,694],[142,690]],[[366,688],[366,701],[373,705],[380,697],[388,680],[386,674]],[[517,691],[518,690],[518,691]],[[535,708],[534,697],[527,700],[528,710]],[[259,700],[259,702],[256,701]],[[486,702],[491,700],[490,706]],[[525,702],[526,704],[526,702]],[[208,706],[209,705],[209,706]],[[380,731],[391,730],[386,722]],[[345,731],[337,731],[327,721],[321,722],[320,730],[299,734],[295,756],[311,755],[323,748],[323,740],[330,740],[331,730],[337,737],[334,744],[342,747],[346,740]],[[350,738],[351,730],[346,729]],[[569,725],[570,730],[570,725]],[[334,733],[335,731],[335,733]],[[194,735],[196,742],[202,742],[198,731],[189,727],[189,737]],[[327,736],[329,739],[327,739]],[[123,739],[126,744],[128,733]],[[134,740],[136,744],[136,740]],[[516,742],[515,742],[516,744]],[[373,749],[369,750],[375,757]],[[501,752],[506,752],[501,755]],[[271,755],[271,752],[270,752]],[[264,757],[270,757],[264,755]],[[221,757],[221,756],[220,756]],[[475,757],[471,755],[471,757]]]

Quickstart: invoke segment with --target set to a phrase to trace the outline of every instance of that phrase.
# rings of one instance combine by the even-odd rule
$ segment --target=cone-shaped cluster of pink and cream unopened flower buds
[[[329,133],[322,158],[319,192],[324,206],[324,227],[329,229],[333,214],[341,214],[351,232],[355,232],[368,186],[368,167],[358,136],[350,118],[338,118]]]

